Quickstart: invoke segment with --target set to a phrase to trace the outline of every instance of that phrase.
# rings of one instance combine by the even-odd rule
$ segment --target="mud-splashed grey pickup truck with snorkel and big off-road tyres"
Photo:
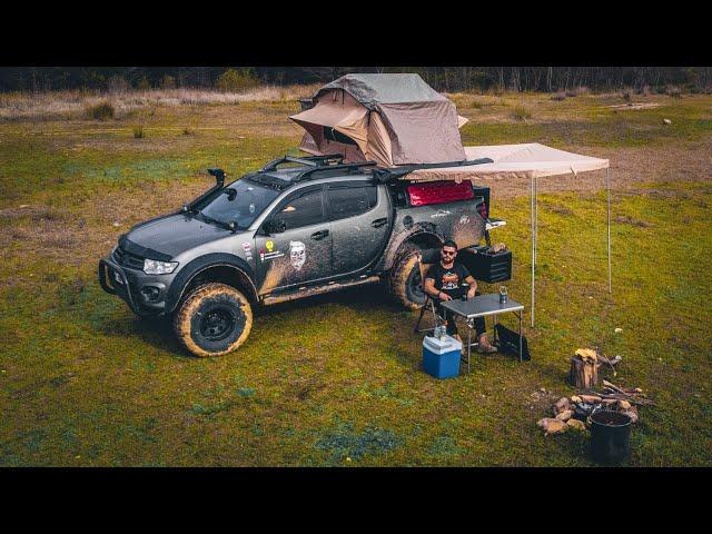
[[[216,185],[120,236],[99,283],[139,316],[168,316],[190,353],[237,349],[253,308],[384,283],[409,309],[425,300],[418,258],[485,235],[488,188],[411,184],[373,162],[284,157]],[[405,175],[405,176],[404,176]]]

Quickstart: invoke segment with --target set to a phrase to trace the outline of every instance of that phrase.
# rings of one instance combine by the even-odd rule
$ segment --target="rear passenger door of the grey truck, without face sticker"
[[[366,181],[329,184],[334,275],[366,267],[383,251],[390,231],[390,202],[383,186]]]

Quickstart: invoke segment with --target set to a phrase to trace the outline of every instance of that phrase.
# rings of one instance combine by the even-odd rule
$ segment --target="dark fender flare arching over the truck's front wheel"
[[[206,254],[199,258],[188,263],[176,278],[174,278],[166,296],[166,313],[172,313],[178,303],[182,298],[186,287],[192,281],[192,279],[200,273],[204,273],[214,267],[229,267],[235,269],[239,280],[243,281],[241,286],[247,286],[247,294],[245,295],[250,304],[257,303],[257,287],[255,286],[255,271],[250,265],[239,256],[233,254],[214,253]],[[247,281],[247,284],[245,284]]]

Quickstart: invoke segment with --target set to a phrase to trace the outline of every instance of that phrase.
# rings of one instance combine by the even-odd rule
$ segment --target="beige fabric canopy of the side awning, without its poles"
[[[538,142],[523,145],[490,145],[464,147],[468,160],[491,158],[492,164],[464,167],[418,169],[403,177],[409,181],[441,181],[487,178],[541,178],[545,176],[577,175],[589,170],[606,169],[607,159],[582,156]]]

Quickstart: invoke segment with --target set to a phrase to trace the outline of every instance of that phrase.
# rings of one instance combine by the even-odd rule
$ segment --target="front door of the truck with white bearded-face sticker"
[[[255,236],[259,294],[332,276],[332,233],[323,186],[305,187],[279,202]],[[269,220],[285,231],[265,235]]]

